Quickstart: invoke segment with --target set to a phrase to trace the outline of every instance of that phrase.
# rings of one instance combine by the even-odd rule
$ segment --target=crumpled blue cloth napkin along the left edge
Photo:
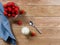
[[[16,45],[16,40],[14,35],[11,32],[10,23],[8,19],[4,16],[4,8],[0,2],[0,38],[4,41]]]

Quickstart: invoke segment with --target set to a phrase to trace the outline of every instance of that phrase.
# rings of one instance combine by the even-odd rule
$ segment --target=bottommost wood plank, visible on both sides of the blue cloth
[[[8,45],[4,41],[1,41],[1,45]],[[60,39],[49,39],[49,38],[31,38],[31,39],[19,39],[17,40],[17,45],[59,45]]]

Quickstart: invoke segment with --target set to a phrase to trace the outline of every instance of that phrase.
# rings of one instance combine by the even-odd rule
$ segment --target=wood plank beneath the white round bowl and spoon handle
[[[22,26],[23,27],[23,26]],[[27,26],[30,28],[31,31],[36,33],[35,37],[39,38],[50,38],[50,39],[60,39],[60,28],[38,28],[42,34],[39,34],[33,27]],[[13,28],[14,35],[16,36],[17,39],[24,39],[26,38],[22,33],[21,33],[21,27],[18,28]]]

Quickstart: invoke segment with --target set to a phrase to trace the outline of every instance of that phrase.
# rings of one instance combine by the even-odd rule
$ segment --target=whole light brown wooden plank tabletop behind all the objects
[[[3,4],[9,1],[15,2],[27,13],[25,17],[18,19],[23,25],[12,23],[12,31],[16,37],[17,45],[60,45],[60,0],[0,0]],[[25,20],[25,21],[24,21]],[[41,30],[40,35],[27,21],[32,20],[36,27]],[[20,30],[27,26],[36,32],[35,37],[27,39]],[[0,39],[0,45],[10,45]]]

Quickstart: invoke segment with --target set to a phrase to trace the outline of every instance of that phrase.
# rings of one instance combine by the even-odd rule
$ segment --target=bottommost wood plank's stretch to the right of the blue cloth
[[[49,40],[49,41],[48,41]],[[60,44],[60,40],[59,39],[54,39],[54,40],[50,40],[50,39],[38,39],[38,38],[35,38],[32,39],[32,40],[25,40],[23,39],[22,41],[20,40],[19,42],[23,42],[23,43],[20,43],[22,45],[59,45]],[[55,42],[55,43],[54,43]]]

